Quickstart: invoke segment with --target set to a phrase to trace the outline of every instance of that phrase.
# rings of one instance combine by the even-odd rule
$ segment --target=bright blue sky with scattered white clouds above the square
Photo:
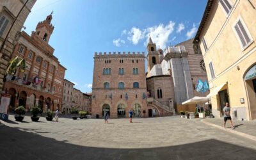
[[[207,0],[37,0],[24,26],[30,35],[52,10],[49,44],[67,68],[65,78],[92,91],[94,52],[146,52],[193,38]]]

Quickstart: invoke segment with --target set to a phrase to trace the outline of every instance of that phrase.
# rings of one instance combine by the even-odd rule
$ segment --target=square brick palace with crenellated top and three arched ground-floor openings
[[[147,85],[144,52],[95,52],[92,86],[92,116],[147,117]]]

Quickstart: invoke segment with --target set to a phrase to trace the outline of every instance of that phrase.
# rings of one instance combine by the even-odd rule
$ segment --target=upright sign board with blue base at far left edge
[[[8,120],[8,106],[10,104],[11,95],[3,93],[0,102],[0,118]]]

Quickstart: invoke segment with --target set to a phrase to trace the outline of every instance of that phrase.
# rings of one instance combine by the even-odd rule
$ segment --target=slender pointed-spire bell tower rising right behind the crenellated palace
[[[147,45],[147,77],[150,76],[149,72],[154,67],[154,65],[159,64],[159,54],[156,51],[156,44],[152,42],[151,37],[148,38],[148,45]]]

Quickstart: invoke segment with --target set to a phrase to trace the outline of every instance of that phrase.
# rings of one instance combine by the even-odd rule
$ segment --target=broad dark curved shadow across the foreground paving
[[[0,127],[1,159],[255,159],[256,150],[218,140],[159,148],[97,148]],[[62,136],[62,135],[60,135]],[[108,147],[108,146],[106,146]]]

